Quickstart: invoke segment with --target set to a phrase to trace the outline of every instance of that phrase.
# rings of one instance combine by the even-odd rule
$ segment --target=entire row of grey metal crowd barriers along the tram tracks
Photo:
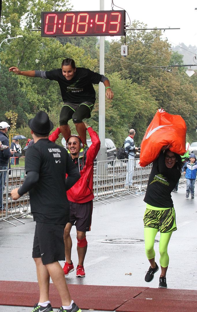
[[[147,188],[148,179],[152,164],[146,167],[140,167],[139,159],[124,159],[99,161],[94,164],[93,172],[93,193],[94,201],[103,204],[109,203],[109,197],[117,198],[121,201],[126,199],[125,195],[137,197],[144,194]],[[25,194],[18,200],[13,201],[10,192],[13,188],[19,188],[25,178],[25,168],[12,168],[8,170],[0,170],[0,175],[6,175],[5,189],[2,194],[2,204],[5,207],[5,213],[0,212],[0,221],[6,221],[11,224],[9,219],[12,217],[19,222],[22,222],[18,217],[25,217],[30,213],[29,194]],[[1,187],[3,180],[0,178]],[[185,182],[185,175],[182,174],[179,187]],[[1,196],[1,195],[0,195]],[[22,222],[24,223],[24,222]],[[15,224],[13,224],[15,225]]]

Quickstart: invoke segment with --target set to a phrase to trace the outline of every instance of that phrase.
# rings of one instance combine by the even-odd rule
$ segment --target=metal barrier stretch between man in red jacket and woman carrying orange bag
[[[106,204],[107,198],[124,195],[134,197],[145,193],[152,165],[140,167],[139,159],[97,162],[94,167],[93,189],[95,201]]]

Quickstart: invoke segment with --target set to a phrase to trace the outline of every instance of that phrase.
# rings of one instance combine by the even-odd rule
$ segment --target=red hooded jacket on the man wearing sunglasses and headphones
[[[94,159],[100,149],[100,139],[96,131],[88,127],[87,131],[90,134],[92,144],[84,154],[84,166],[80,171],[81,178],[67,192],[67,198],[71,202],[84,203],[89,202],[94,198],[93,194],[93,170]],[[57,128],[50,136],[49,140],[55,142],[59,137],[60,129]],[[77,165],[78,167],[78,165]]]

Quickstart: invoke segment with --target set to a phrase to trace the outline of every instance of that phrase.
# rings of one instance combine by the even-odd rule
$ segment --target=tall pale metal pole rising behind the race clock
[[[104,0],[100,0],[100,11],[104,11]],[[105,74],[105,37],[100,36],[100,74]],[[99,84],[99,138],[101,148],[98,152],[98,161],[107,160],[107,149],[105,146],[105,86]]]

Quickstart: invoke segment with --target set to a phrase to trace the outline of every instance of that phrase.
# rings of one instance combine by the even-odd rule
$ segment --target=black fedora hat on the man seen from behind
[[[28,121],[29,128],[39,134],[47,134],[53,129],[53,123],[49,116],[43,110],[40,110],[36,116]]]

